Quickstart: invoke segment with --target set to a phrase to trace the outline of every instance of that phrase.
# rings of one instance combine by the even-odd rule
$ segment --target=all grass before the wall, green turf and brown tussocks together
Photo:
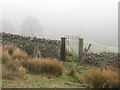
[[[3,47],[4,88],[105,88],[118,87],[116,69],[107,70],[50,58],[31,58],[12,45]]]

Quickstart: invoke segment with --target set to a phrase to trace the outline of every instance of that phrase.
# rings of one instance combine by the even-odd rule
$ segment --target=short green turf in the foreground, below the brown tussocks
[[[63,75],[59,77],[51,74],[26,73],[23,78],[15,76],[13,79],[3,78],[2,86],[4,88],[84,88],[86,85],[81,80],[83,73],[79,72],[85,72],[86,67],[79,70],[79,72],[75,69],[75,75],[69,76],[68,73],[70,72],[70,68],[74,66],[74,64],[75,63],[68,65],[67,62],[63,63],[65,70]]]

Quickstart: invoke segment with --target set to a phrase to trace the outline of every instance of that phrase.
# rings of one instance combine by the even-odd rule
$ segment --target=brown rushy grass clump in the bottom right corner
[[[90,70],[85,73],[84,79],[93,88],[118,88],[118,72],[111,70]]]

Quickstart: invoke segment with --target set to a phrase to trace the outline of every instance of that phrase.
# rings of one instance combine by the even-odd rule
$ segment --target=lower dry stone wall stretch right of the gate
[[[120,60],[118,58],[118,53],[102,52],[102,53],[88,53],[85,57],[85,63],[103,66],[103,65],[120,65]],[[120,68],[120,67],[119,67]]]

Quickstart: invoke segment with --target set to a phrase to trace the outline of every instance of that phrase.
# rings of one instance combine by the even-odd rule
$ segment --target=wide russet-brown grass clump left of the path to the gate
[[[63,74],[63,65],[56,59],[34,58],[29,60],[29,71],[59,76]]]

